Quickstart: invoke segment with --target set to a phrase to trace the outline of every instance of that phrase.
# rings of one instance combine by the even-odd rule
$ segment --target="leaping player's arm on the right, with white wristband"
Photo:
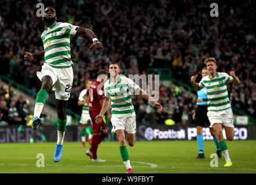
[[[79,27],[76,34],[81,36],[87,36],[89,39],[93,41],[92,45],[90,46],[90,49],[97,49],[97,50],[103,49],[102,43],[98,41],[96,35],[92,31],[90,31],[90,29]]]

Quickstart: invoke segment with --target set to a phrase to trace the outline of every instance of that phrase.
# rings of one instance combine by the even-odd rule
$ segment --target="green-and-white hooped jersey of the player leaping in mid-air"
[[[75,35],[78,26],[54,22],[45,27],[41,38],[45,49],[45,64],[53,68],[74,66],[71,60],[70,35]]]

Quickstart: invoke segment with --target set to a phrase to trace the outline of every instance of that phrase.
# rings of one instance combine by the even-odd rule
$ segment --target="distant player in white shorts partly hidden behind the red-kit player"
[[[92,80],[87,80],[86,88],[80,92],[79,97],[78,97],[78,106],[81,106],[81,105],[83,106],[81,119],[79,121],[82,124],[81,141],[82,141],[83,147],[85,147],[85,142],[86,142],[85,134],[86,134],[86,127],[87,127],[88,121],[91,121],[91,125],[93,125],[92,120],[90,119],[89,106],[87,105],[87,103],[85,101],[85,94],[86,94],[87,90],[89,90],[92,83],[93,83]],[[89,142],[92,142],[92,137],[93,137],[93,133],[90,133],[89,137],[88,137]]]

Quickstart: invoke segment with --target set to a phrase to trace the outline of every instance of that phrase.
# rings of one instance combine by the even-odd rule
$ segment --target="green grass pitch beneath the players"
[[[225,158],[218,159],[218,167],[210,166],[215,153],[212,140],[204,141],[205,159],[198,155],[196,140],[138,141],[127,146],[134,173],[256,173],[256,140],[226,141],[233,166],[224,167]],[[85,155],[89,149],[80,142],[64,142],[60,162],[53,162],[56,143],[1,143],[0,173],[125,173],[118,142],[102,142],[98,157],[107,162],[92,162]],[[44,167],[36,166],[37,154],[43,154]],[[39,163],[39,162],[38,162]],[[42,162],[39,164],[42,165]]]

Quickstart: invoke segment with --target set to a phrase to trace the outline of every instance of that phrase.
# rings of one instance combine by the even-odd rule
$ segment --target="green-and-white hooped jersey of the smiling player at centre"
[[[140,87],[133,80],[120,76],[114,84],[111,80],[104,83],[105,97],[111,98],[111,114],[114,117],[135,116],[131,94]]]

